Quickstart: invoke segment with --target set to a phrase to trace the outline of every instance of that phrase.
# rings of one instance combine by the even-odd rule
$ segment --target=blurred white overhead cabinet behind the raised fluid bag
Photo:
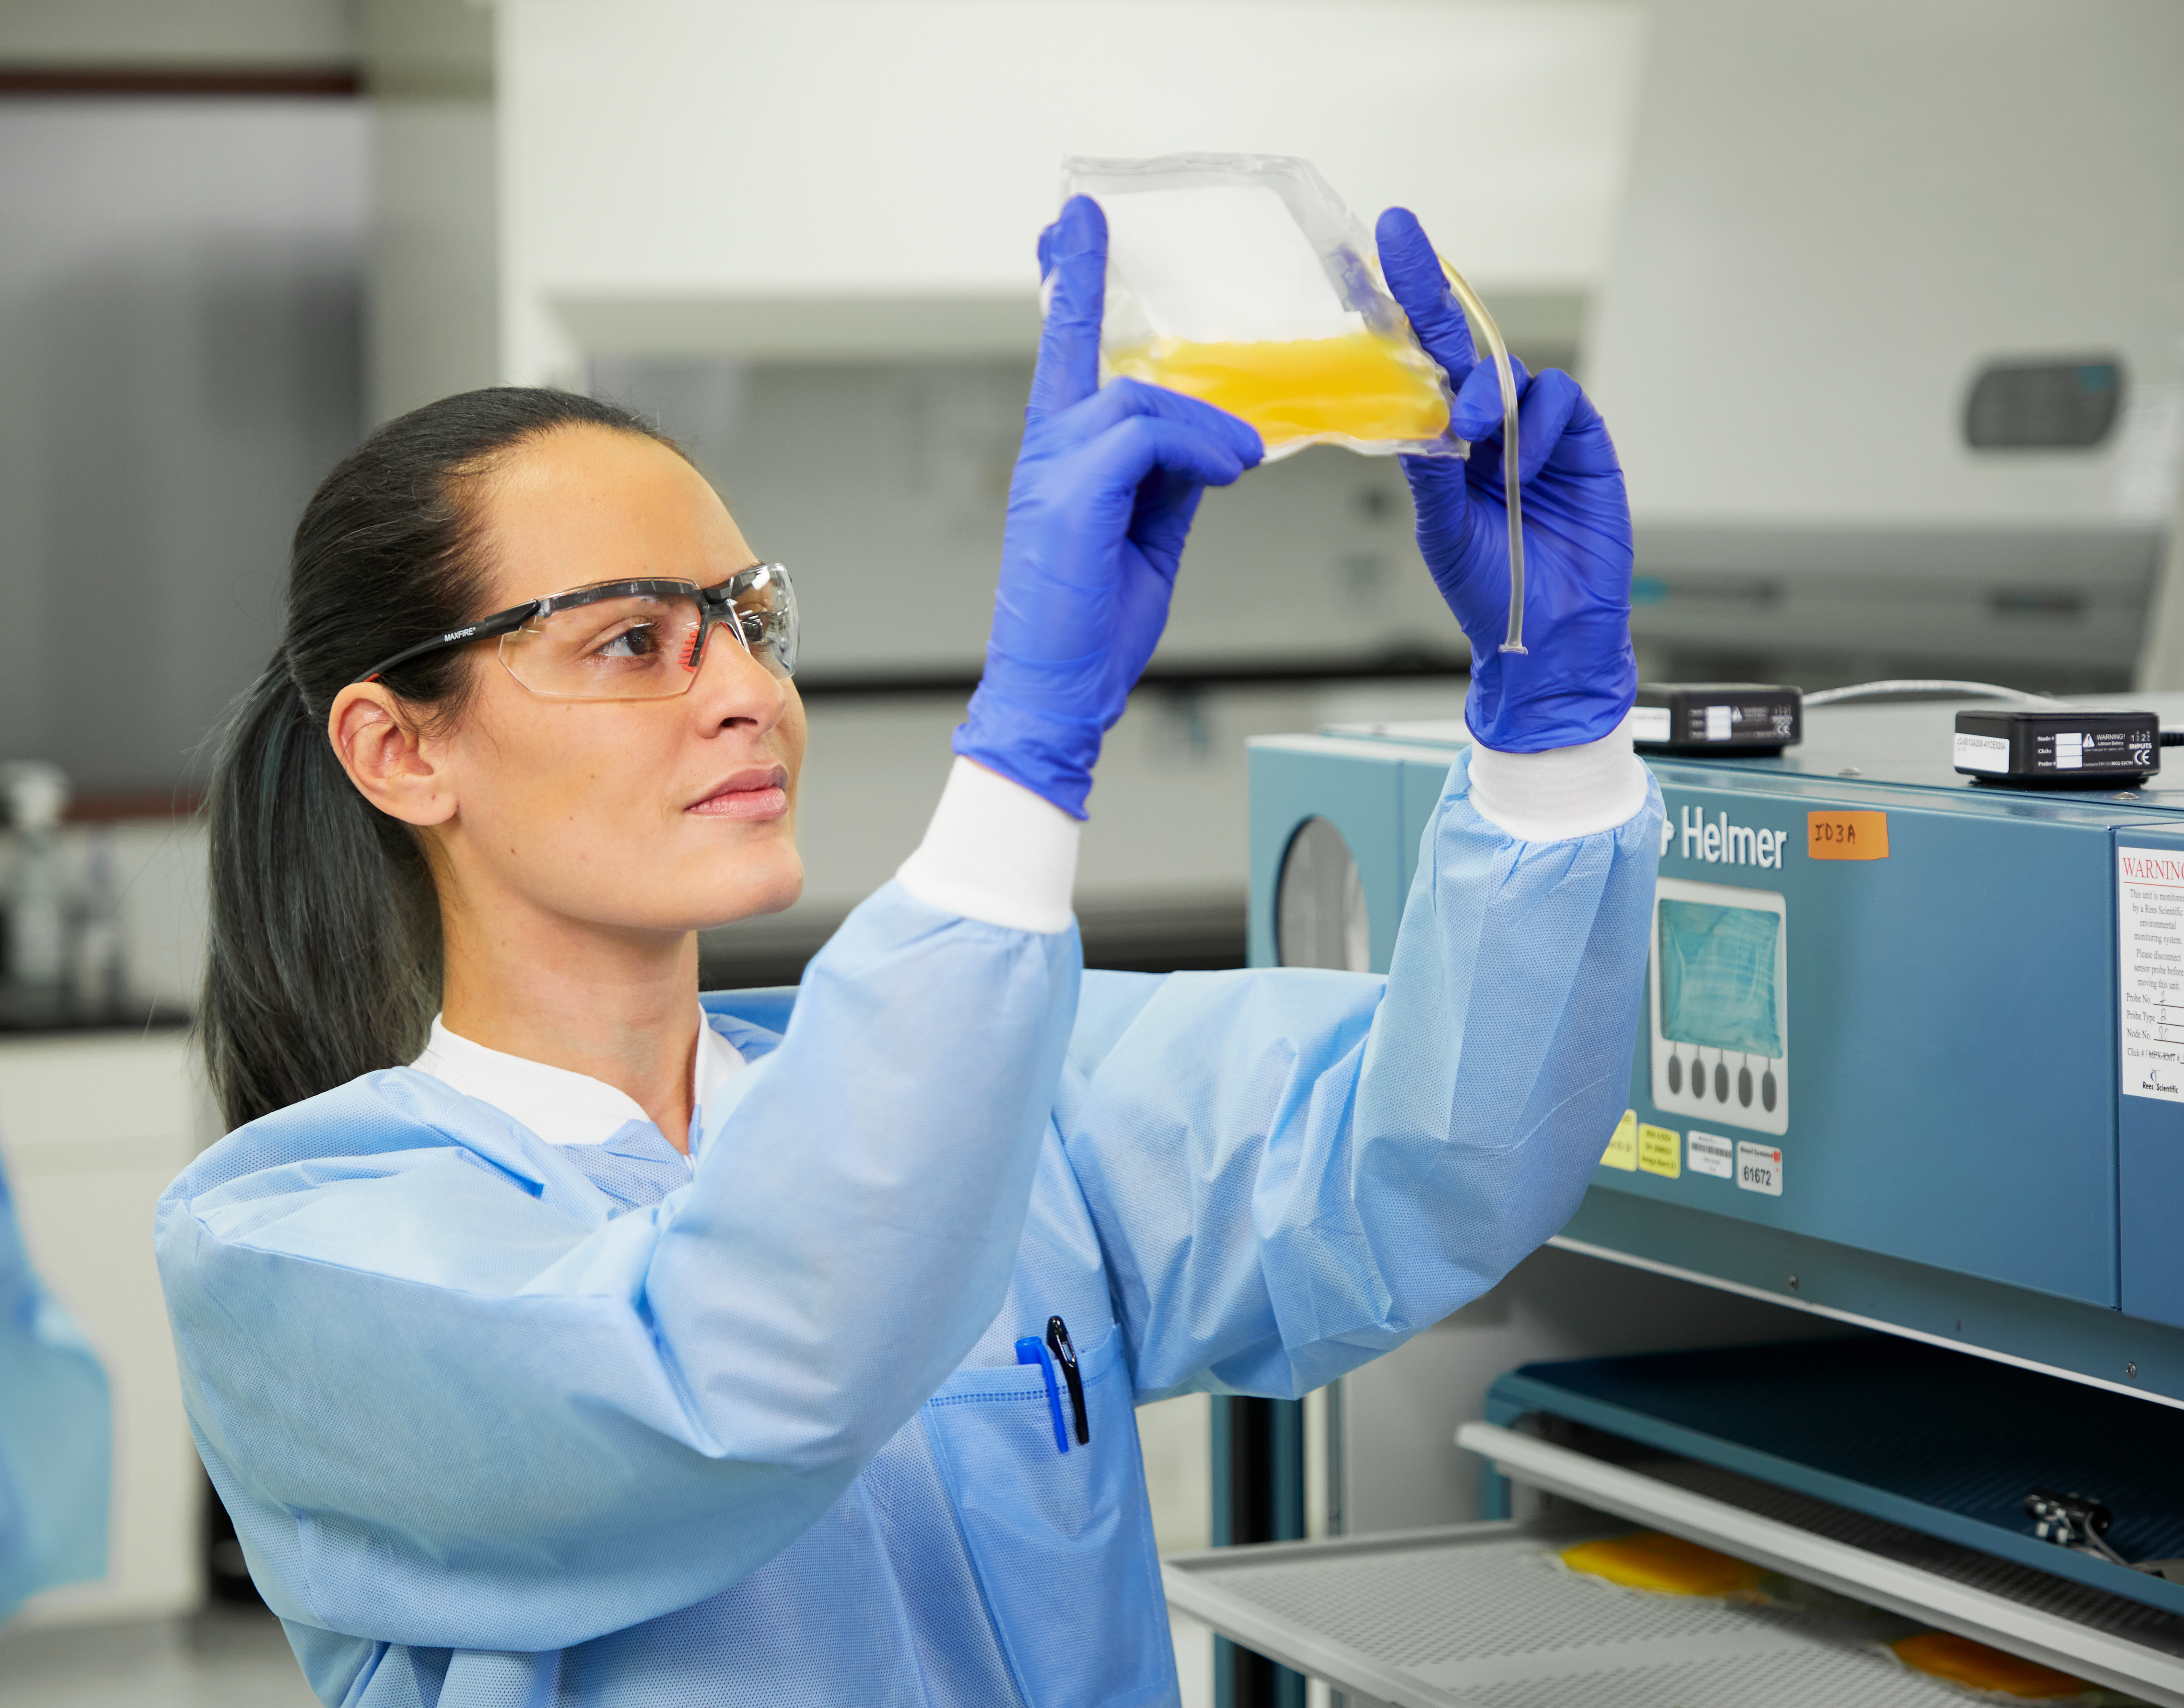
[[[1308,155],[1365,218],[1417,207],[1483,290],[1583,288],[1642,28],[1627,0],[502,0],[498,17],[509,380],[657,352],[662,315],[684,349],[767,347],[812,299],[865,349],[1024,347],[1064,153]]]

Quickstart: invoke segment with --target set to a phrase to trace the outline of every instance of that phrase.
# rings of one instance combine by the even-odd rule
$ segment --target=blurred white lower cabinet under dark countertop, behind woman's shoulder
[[[107,1575],[33,1597],[26,1625],[157,1618],[203,1597],[205,1483],[151,1234],[212,1129],[181,1027],[0,1033],[0,1160],[24,1245],[114,1391]]]

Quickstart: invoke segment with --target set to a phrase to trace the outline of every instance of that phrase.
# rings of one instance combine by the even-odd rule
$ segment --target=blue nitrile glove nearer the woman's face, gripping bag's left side
[[[1258,463],[1234,415],[1136,380],[1099,382],[1107,218],[1075,197],[1040,234],[1046,332],[1009,483],[985,677],[954,751],[1085,817],[1101,736],[1160,631],[1206,487]]]

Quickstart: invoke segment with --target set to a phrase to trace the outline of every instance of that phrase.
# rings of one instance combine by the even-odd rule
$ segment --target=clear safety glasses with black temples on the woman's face
[[[797,668],[797,594],[780,564],[753,564],[727,581],[598,581],[529,605],[511,605],[408,647],[358,681],[441,647],[500,640],[500,662],[544,699],[673,699],[690,692],[714,625],[778,677]]]

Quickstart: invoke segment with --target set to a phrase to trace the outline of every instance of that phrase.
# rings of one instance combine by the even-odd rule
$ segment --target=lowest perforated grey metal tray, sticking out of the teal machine
[[[1208,1549],[1168,1601],[1391,1708],[1966,1708],[1883,1647],[1900,1625],[1621,1590],[1555,1557],[1590,1531],[1516,1522]]]

